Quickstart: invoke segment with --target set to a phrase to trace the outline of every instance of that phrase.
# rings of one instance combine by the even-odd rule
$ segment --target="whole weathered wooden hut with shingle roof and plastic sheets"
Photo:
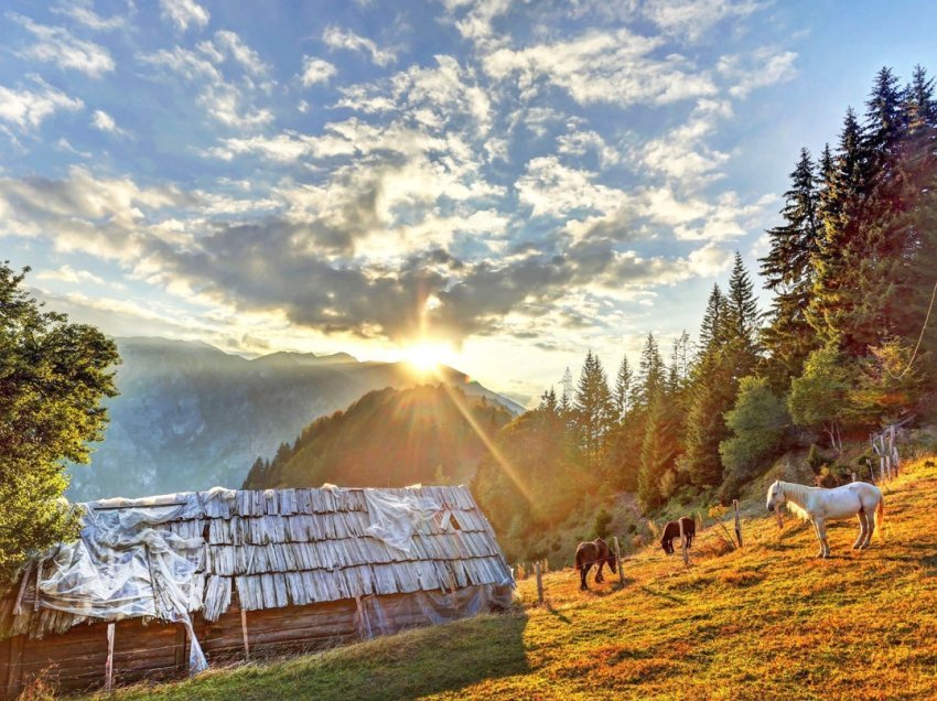
[[[465,487],[215,488],[84,506],[82,538],[29,563],[0,600],[0,698],[39,675],[61,691],[166,679],[511,597]]]

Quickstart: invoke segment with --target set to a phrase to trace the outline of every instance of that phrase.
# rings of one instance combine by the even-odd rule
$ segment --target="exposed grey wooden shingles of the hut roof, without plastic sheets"
[[[216,621],[237,593],[248,611],[370,594],[449,591],[511,581],[494,531],[466,487],[375,489],[431,499],[439,511],[419,521],[409,552],[371,537],[365,489],[212,489],[88,504],[99,516],[128,509],[174,509],[159,526],[203,538],[190,608]],[[35,574],[0,601],[0,637],[64,632],[87,617],[40,607]],[[15,600],[20,615],[13,615]]]

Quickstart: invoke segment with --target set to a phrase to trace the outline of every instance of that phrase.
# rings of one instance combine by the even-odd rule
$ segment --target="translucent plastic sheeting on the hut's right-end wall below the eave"
[[[392,635],[403,628],[438,625],[507,608],[513,595],[511,584],[481,584],[449,593],[433,591],[364,596],[358,600],[358,634],[369,639]]]

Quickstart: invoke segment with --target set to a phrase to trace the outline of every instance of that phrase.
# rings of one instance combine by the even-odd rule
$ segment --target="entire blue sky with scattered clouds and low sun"
[[[0,260],[109,334],[536,400],[696,334],[800,148],[935,35],[926,1],[4,0]]]

